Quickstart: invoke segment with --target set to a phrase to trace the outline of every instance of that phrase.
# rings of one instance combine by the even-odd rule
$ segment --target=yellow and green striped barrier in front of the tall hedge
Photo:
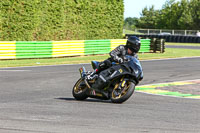
[[[126,39],[70,41],[1,41],[0,59],[51,58],[107,54]],[[150,39],[141,39],[139,52],[150,52]]]

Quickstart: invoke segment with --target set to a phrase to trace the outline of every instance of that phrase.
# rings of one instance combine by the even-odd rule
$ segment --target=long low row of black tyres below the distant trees
[[[139,38],[157,38],[165,39],[165,42],[182,42],[182,43],[200,43],[199,36],[183,36],[183,35],[137,35],[137,34],[126,34],[126,38],[129,36],[137,36]]]

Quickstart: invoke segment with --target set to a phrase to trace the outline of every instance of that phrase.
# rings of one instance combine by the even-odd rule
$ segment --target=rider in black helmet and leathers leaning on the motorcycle
[[[120,45],[112,50],[109,53],[111,57],[104,60],[103,62],[100,62],[97,69],[95,69],[94,72],[91,72],[87,76],[87,80],[93,80],[94,78],[98,77],[98,73],[106,68],[109,68],[112,65],[112,62],[123,63],[126,55],[134,57],[132,58],[134,60],[133,65],[138,69],[138,73],[136,74],[136,76],[139,80],[142,80],[143,71],[138,60],[138,56],[136,54],[140,50],[140,45],[141,43],[139,38],[135,36],[130,36],[126,42],[126,45]]]

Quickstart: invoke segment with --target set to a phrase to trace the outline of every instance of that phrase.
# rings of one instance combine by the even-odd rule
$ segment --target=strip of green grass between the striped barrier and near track
[[[167,48],[165,53],[139,53],[138,55],[140,60],[192,57],[192,56],[200,56],[200,50]],[[108,57],[109,55],[106,54],[106,55],[96,55],[96,56],[50,58],[50,59],[0,60],[0,67],[90,63],[91,60],[102,61]]]

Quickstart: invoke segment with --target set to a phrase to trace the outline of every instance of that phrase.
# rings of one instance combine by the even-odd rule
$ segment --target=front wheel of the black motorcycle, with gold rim
[[[113,103],[123,103],[129,99],[135,90],[135,84],[133,82],[127,81],[123,89],[118,89],[119,83],[115,85],[111,93],[111,101]]]

